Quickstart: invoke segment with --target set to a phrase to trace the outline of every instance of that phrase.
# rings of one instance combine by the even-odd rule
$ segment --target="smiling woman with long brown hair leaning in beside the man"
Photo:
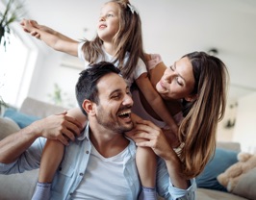
[[[158,64],[151,68],[150,80],[179,124],[178,136],[168,133],[166,123],[150,109],[138,90],[133,91],[133,111],[164,128],[169,144],[180,147],[177,154],[182,162],[182,174],[194,178],[215,152],[218,120],[223,117],[226,105],[227,68],[218,58],[204,52],[187,54],[170,67],[159,56],[153,57]],[[128,136],[135,140],[144,137],[141,132]],[[139,146],[148,142],[150,139]],[[154,160],[144,161],[144,166],[148,167],[150,162]],[[147,173],[146,167],[144,172]]]

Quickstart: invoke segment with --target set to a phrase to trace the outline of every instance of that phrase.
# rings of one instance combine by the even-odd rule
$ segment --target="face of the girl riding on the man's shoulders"
[[[119,6],[115,2],[106,3],[100,13],[97,33],[104,42],[112,42],[119,29]]]

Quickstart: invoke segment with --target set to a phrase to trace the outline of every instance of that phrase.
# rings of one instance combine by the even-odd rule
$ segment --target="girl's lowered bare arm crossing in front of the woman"
[[[141,76],[136,80],[136,84],[141,89],[143,96],[149,103],[151,108],[156,112],[169,126],[170,130],[174,133],[178,133],[178,126],[175,123],[173,117],[168,112],[166,105],[162,97],[158,94],[156,89],[152,86],[147,73],[141,74]]]

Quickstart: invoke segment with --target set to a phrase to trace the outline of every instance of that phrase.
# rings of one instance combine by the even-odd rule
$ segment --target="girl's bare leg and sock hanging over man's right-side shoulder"
[[[139,171],[142,190],[140,200],[155,200],[156,195],[156,155],[150,148],[138,147],[136,163]]]

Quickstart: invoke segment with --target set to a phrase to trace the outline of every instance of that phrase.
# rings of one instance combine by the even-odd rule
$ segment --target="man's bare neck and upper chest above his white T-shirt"
[[[93,131],[92,131],[92,130]],[[90,129],[90,141],[96,150],[105,158],[111,158],[122,152],[129,144],[123,134],[108,130]]]

